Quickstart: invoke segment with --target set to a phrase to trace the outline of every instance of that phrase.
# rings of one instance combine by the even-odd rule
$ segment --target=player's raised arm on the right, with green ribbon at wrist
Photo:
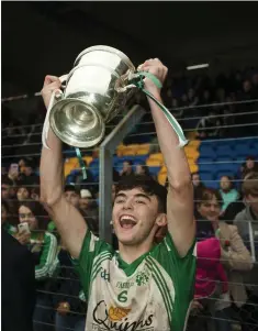
[[[161,82],[164,82],[167,76],[167,68],[157,58],[146,60],[141,66],[141,70],[149,71]],[[145,79],[145,89],[158,99],[158,101],[162,102],[160,90],[147,78]],[[168,172],[168,230],[179,254],[184,256],[191,247],[195,235],[191,174],[184,151],[178,146],[179,139],[176,132],[161,109],[152,99],[148,98],[148,101]]]

